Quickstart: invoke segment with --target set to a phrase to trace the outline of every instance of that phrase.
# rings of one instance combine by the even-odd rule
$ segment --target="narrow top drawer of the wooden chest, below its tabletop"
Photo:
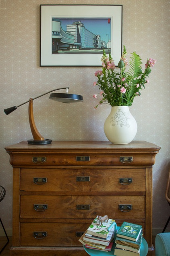
[[[147,153],[14,153],[13,166],[151,166]],[[154,164],[154,159],[153,163]]]

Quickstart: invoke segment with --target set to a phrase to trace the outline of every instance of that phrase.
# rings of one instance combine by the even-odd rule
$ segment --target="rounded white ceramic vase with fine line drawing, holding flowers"
[[[137,133],[137,122],[128,106],[112,107],[104,123],[104,132],[114,144],[128,144],[133,141]]]

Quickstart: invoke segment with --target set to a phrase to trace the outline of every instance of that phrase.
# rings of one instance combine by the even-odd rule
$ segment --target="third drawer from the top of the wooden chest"
[[[145,196],[21,195],[21,218],[91,219],[105,214],[114,219],[144,219]]]

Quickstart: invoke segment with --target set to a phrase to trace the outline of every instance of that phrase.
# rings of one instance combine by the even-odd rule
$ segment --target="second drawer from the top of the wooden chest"
[[[21,168],[21,191],[145,191],[145,168]]]

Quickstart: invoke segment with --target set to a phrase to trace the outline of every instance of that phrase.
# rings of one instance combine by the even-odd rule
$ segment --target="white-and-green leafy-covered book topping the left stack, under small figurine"
[[[107,222],[104,221],[102,225],[100,225],[99,220],[96,217],[87,229],[87,233],[97,237],[107,238],[110,232],[110,228],[112,228],[114,225],[116,225],[116,222],[112,219],[108,219]]]

